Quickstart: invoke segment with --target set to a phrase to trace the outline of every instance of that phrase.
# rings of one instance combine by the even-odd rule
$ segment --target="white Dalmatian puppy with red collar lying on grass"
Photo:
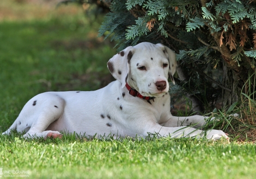
[[[207,117],[175,117],[170,113],[168,76],[174,83],[175,53],[148,42],[127,47],[107,63],[116,81],[96,91],[45,92],[23,107],[10,128],[24,137],[61,138],[60,132],[85,136],[220,139],[221,130],[202,131],[186,125],[205,124]]]

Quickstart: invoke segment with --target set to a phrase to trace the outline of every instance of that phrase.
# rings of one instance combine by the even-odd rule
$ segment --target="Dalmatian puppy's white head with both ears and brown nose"
[[[114,55],[107,66],[122,87],[128,82],[144,96],[161,97],[169,90],[168,76],[174,83],[177,63],[168,47],[142,42]]]

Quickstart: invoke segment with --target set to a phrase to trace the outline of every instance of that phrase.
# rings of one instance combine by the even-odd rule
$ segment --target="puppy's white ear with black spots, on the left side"
[[[107,62],[107,67],[115,79],[121,82],[122,88],[125,86],[130,72],[130,60],[134,53],[132,46],[127,47],[118,54],[114,55]]]

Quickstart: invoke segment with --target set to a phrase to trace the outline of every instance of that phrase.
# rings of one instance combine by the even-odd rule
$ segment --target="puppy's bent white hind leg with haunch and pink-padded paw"
[[[36,95],[23,107],[14,124],[3,133],[9,135],[11,130],[26,132],[23,137],[61,138],[58,131],[45,131],[47,127],[58,120],[64,111],[65,100],[54,93]]]

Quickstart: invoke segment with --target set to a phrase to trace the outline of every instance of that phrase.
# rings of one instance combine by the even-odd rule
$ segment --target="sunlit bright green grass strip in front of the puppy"
[[[2,138],[3,170],[32,178],[254,178],[254,144],[190,139]]]

